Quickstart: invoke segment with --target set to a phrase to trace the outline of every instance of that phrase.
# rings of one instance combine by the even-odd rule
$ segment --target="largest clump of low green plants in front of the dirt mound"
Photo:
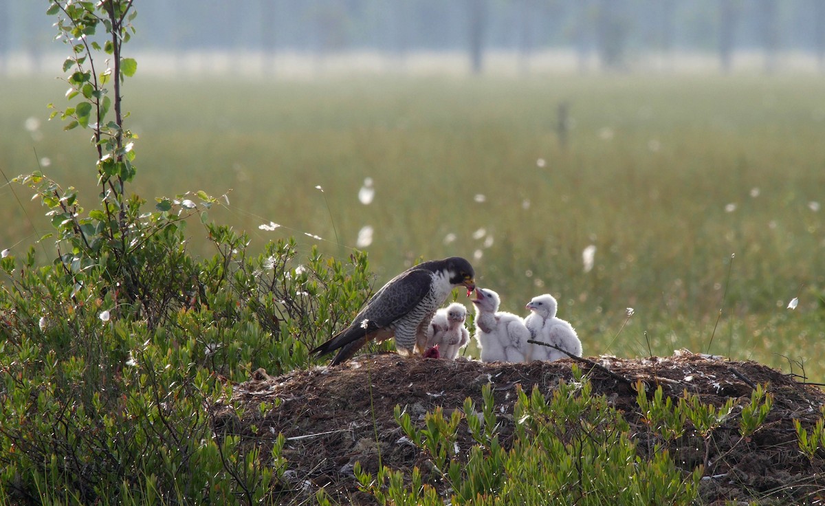
[[[427,414],[424,428],[417,428],[402,416],[404,433],[431,457],[435,475],[424,483],[417,469],[406,477],[381,466],[373,476],[359,466],[361,489],[380,504],[692,504],[702,467],[685,474],[667,451],[649,460],[638,456],[625,419],[604,396],[593,395],[579,371],[575,374],[549,399],[538,388],[530,395],[519,390],[509,450],[498,439],[489,385],[483,388],[481,413],[466,400],[464,414],[457,417],[456,410],[449,422],[436,411]],[[465,458],[450,457],[445,473],[438,464],[450,453],[450,442],[457,441],[463,426],[456,423],[459,418],[466,421],[474,445]],[[433,484],[442,481],[446,487],[439,492]]]

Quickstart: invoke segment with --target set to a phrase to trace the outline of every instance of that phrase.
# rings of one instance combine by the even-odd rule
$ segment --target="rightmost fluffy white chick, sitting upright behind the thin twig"
[[[546,293],[535,296],[527,303],[526,308],[531,312],[524,319],[524,323],[535,341],[552,344],[573,353],[576,357],[582,356],[582,342],[576,335],[573,325],[556,317],[559,303],[554,296]],[[568,356],[557,349],[530,343],[530,360],[554,361],[559,358]]]

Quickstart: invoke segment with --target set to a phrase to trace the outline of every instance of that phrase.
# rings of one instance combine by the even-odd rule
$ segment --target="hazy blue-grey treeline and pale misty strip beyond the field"
[[[823,0],[136,0],[141,72],[825,69]],[[46,2],[0,0],[0,72],[53,72]]]

